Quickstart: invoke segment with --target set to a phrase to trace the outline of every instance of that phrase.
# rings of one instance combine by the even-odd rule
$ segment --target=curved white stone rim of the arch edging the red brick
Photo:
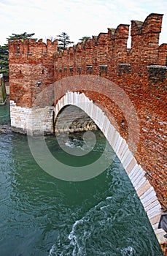
[[[160,220],[161,206],[156,196],[155,189],[149,184],[145,176],[145,171],[138,164],[131,150],[129,149],[128,143],[117,129],[109,121],[109,118],[104,112],[94,104],[92,100],[85,96],[84,93],[78,92],[67,92],[55,105],[55,118],[58,113],[67,105],[75,105],[85,111],[90,118],[97,124],[101,132],[105,135],[109,144],[112,146],[117,157],[120,159],[123,167],[125,168],[128,177],[136,190],[139,199],[147,213],[149,222],[158,238],[158,241],[162,243],[164,241],[163,236],[165,235],[162,229],[158,229],[158,223]]]

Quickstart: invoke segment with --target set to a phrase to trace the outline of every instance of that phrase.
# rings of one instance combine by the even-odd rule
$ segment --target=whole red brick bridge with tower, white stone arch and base
[[[167,209],[167,44],[158,45],[162,19],[150,14],[144,22],[132,20],[131,49],[129,25],[123,24],[63,52],[57,51],[57,40],[9,42],[12,128],[50,133],[64,107],[79,107],[120,158],[160,243],[165,233],[158,222]]]

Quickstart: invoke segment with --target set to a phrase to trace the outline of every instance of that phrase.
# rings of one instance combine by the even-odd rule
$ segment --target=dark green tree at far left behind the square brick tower
[[[23,34],[12,34],[7,37],[7,41],[15,40],[15,39],[28,39],[34,36],[35,33],[27,34],[24,32]],[[9,75],[9,50],[8,44],[0,45],[0,73],[7,77]]]

